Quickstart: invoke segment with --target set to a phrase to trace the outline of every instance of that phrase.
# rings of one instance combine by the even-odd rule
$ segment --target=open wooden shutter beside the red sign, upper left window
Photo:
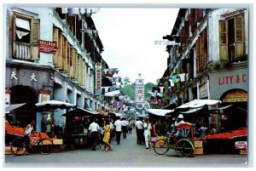
[[[39,60],[40,20],[32,19],[31,60]]]

